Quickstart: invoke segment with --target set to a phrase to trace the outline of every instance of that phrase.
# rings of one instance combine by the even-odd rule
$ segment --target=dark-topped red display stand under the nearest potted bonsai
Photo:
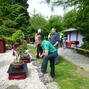
[[[14,68],[12,65],[10,65],[7,71],[8,79],[9,80],[25,79],[27,77],[27,72],[28,72],[27,64],[23,64],[21,68]]]

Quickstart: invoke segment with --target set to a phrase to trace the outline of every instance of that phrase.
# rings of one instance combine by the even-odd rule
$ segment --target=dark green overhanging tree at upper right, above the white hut
[[[74,19],[74,22],[76,22],[77,28],[84,35],[84,45],[87,47],[86,42],[89,43],[89,0],[46,0],[46,2],[51,3],[52,6],[62,5],[64,9],[72,6],[76,8],[77,21]]]

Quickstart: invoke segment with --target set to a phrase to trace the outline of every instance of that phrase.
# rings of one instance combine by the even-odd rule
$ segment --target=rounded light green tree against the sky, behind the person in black
[[[35,33],[37,32],[38,29],[42,29],[43,32],[44,28],[47,24],[46,19],[40,15],[40,14],[35,14],[32,17],[30,17],[30,26],[28,27],[28,33],[30,34],[30,38],[34,37]]]

